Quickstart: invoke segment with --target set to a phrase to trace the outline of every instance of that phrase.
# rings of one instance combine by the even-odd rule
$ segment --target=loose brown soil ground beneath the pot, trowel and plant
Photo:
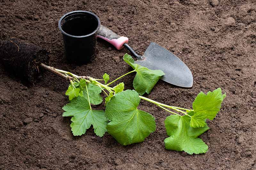
[[[0,40],[18,37],[44,47],[56,68],[95,78],[107,72],[112,79],[130,70],[122,61],[128,51],[102,40],[92,63],[67,62],[58,20],[69,11],[87,10],[129,37],[139,54],[154,41],[192,71],[192,88],[160,80],[147,97],[191,107],[200,91],[221,87],[227,93],[220,113],[208,122],[211,129],[200,136],[209,151],[188,155],[164,149],[169,114],[146,101],[140,109],[154,115],[156,132],[144,142],[122,146],[108,134],[97,137],[92,128],[74,137],[70,118],[61,116],[68,82],[44,73],[31,85],[0,65],[0,169],[256,169],[255,0],[0,0],[0,6]],[[132,89],[133,77],[120,81]]]

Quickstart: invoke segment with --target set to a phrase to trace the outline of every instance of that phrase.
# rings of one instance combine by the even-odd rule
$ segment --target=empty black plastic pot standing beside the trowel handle
[[[72,11],[59,20],[66,56],[69,62],[88,63],[95,52],[100,19],[89,11]]]

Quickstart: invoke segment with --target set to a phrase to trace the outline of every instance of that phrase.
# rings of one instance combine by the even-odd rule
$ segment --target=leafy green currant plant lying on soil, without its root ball
[[[151,92],[157,81],[164,75],[163,71],[150,70],[135,64],[128,54],[125,54],[123,59],[134,70],[110,83],[108,83],[110,78],[107,73],[103,75],[103,79],[95,79],[54,69],[70,81],[66,92],[70,103],[63,107],[65,111],[63,116],[72,117],[70,127],[73,135],[85,134],[92,125],[96,135],[102,137],[105,132],[108,132],[122,145],[142,142],[156,130],[153,115],[138,109],[140,100],[146,100],[172,114],[164,121],[169,136],[164,140],[166,149],[185,151],[189,154],[207,152],[208,146],[199,136],[209,129],[206,119],[214,119],[220,111],[226,94],[222,94],[220,88],[207,94],[200,92],[192,108],[169,106],[148,99],[142,95]],[[132,72],[136,72],[133,80],[135,90],[124,90],[124,83],[110,86]],[[101,92],[106,96],[105,111],[94,110],[91,107],[102,103]]]

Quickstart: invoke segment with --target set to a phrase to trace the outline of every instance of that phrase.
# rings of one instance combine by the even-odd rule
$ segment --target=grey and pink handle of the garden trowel
[[[106,26],[102,26],[102,25],[100,26],[97,37],[108,41],[118,50],[124,48],[123,44],[128,42],[127,37],[117,35],[113,31],[108,29]]]

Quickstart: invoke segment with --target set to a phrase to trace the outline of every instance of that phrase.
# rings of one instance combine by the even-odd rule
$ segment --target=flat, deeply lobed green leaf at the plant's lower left
[[[62,116],[73,116],[70,127],[74,136],[83,135],[91,125],[94,133],[100,137],[107,131],[108,121],[104,111],[92,110],[84,97],[78,96],[62,109],[65,111]]]

